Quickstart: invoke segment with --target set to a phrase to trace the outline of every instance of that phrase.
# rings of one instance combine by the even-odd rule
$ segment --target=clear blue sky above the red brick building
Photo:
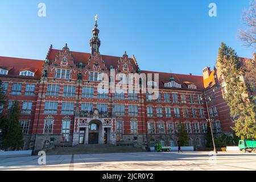
[[[38,4],[46,4],[46,17]],[[208,15],[209,3],[217,17]],[[238,56],[253,49],[238,40],[249,0],[1,0],[0,56],[46,58],[50,44],[90,52],[94,16],[98,14],[102,55],[135,55],[142,70],[202,75],[216,62],[221,42]]]

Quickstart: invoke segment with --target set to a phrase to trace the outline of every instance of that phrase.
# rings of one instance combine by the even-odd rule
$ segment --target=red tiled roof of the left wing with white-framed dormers
[[[28,70],[35,73],[34,77],[29,77],[30,79],[40,79],[43,64],[43,60],[0,56],[0,68],[9,70],[8,75],[1,75],[1,77],[28,78],[27,76],[19,76],[20,71]]]

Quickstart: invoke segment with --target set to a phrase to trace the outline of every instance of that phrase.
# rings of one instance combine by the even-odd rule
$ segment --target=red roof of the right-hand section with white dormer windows
[[[152,73],[152,80],[154,80],[154,73],[159,73],[159,88],[161,89],[179,89],[180,88],[168,88],[165,87],[164,84],[170,82],[170,77],[174,77],[175,82],[177,84],[181,84],[181,90],[197,90],[202,91],[204,90],[203,85],[203,76],[193,76],[193,75],[182,75],[176,73],[163,73],[163,72],[152,72],[152,71],[141,71],[141,73]],[[188,89],[186,82],[191,82],[197,86],[196,89]]]

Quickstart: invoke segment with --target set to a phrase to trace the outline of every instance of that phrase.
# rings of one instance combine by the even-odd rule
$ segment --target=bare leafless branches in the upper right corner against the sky
[[[247,47],[256,48],[256,0],[250,1],[250,7],[242,16],[245,29],[239,29],[239,38]]]

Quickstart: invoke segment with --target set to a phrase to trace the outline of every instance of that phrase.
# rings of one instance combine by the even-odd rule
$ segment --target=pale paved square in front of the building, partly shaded
[[[0,158],[1,170],[256,170],[256,154],[242,152],[133,152]]]

